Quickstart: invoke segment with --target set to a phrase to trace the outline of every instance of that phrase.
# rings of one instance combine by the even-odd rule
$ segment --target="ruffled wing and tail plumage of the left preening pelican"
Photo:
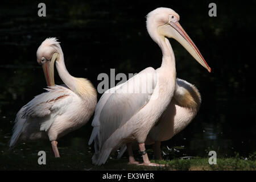
[[[19,137],[22,140],[47,137],[47,135],[44,135],[44,131],[51,127],[52,122],[55,121],[58,115],[67,111],[68,102],[72,102],[72,97],[74,97],[72,91],[59,85],[49,86],[46,90],[48,92],[35,96],[33,100],[19,110],[15,119],[10,147],[14,146]],[[35,130],[36,125],[38,125],[38,130]],[[24,131],[23,134],[22,131]],[[20,136],[20,134],[22,135]]]

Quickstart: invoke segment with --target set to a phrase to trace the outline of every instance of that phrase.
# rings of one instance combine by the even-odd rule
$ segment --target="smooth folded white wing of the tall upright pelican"
[[[156,86],[157,75],[154,68],[146,68],[122,85],[115,87],[114,93],[106,92],[109,96],[102,96],[101,110],[97,110],[94,125],[97,129],[98,147],[114,133],[125,125],[150,100]],[[111,89],[113,91],[113,88]],[[108,92],[109,91],[109,92]],[[96,126],[97,127],[97,126]]]

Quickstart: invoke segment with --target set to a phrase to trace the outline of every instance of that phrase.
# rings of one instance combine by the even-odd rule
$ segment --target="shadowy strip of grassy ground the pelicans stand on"
[[[234,155],[226,156],[221,155],[225,153],[217,151],[217,164],[209,165],[210,156],[207,154],[212,148],[205,150],[205,156],[188,157],[189,154],[184,146],[171,148],[163,146],[164,160],[153,160],[154,153],[148,146],[147,153],[151,162],[166,164],[166,167],[128,165],[127,154],[125,153],[121,159],[115,159],[117,152],[111,154],[104,165],[94,166],[92,164],[93,148],[81,144],[82,142],[77,142],[72,147],[68,143],[60,145],[61,158],[54,158],[48,141],[20,143],[13,151],[9,151],[6,143],[0,145],[0,170],[256,170],[256,152],[246,156],[234,152]],[[38,151],[46,151],[46,165],[38,164],[40,157]],[[134,156],[136,160],[142,162],[137,150],[134,151]]]

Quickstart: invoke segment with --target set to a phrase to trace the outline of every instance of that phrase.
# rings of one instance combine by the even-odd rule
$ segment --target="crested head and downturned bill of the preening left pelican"
[[[54,86],[54,63],[59,60],[60,44],[56,38],[48,38],[36,52],[37,61],[42,65],[48,86]]]

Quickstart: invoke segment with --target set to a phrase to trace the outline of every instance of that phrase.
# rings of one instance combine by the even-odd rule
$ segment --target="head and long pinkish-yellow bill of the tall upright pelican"
[[[172,9],[159,7],[147,15],[147,31],[155,42],[158,38],[174,38],[209,72],[211,71],[199,49],[179,24],[180,16]],[[157,28],[155,28],[157,27]],[[159,36],[155,36],[158,34]]]

